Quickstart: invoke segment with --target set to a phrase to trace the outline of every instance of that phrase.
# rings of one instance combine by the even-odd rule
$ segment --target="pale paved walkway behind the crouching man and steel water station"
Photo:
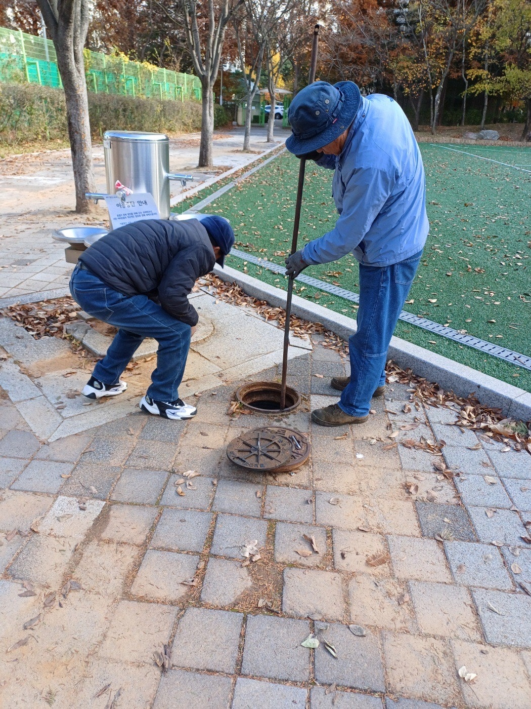
[[[275,140],[285,140],[279,128]],[[251,152],[242,152],[243,129],[216,131],[213,143],[214,164],[227,171],[244,167],[261,153],[270,150],[265,143],[265,128],[253,128]],[[178,172],[198,164],[200,134],[190,133],[171,140],[170,169]],[[103,147],[93,150],[96,189],[105,191]],[[199,172],[198,169],[193,172]],[[205,176],[207,177],[207,176]],[[188,189],[198,183],[188,183]],[[172,195],[181,185],[171,183]],[[40,155],[9,157],[0,161],[0,299],[46,294],[62,294],[68,285],[72,265],[64,261],[64,244],[52,240],[59,228],[75,224],[103,225],[108,228],[108,213],[103,202],[91,216],[76,215],[74,177],[69,150]],[[56,291],[56,292],[54,292]]]

